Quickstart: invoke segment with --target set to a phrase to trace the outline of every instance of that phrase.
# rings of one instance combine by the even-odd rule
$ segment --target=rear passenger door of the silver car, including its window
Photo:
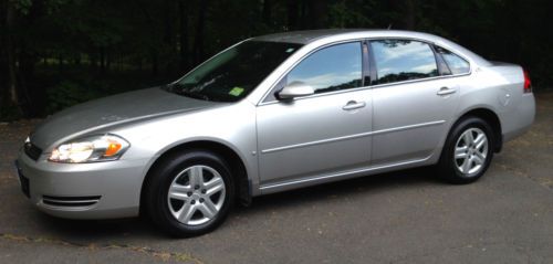
[[[373,40],[369,47],[376,65],[373,165],[428,158],[448,133],[460,80],[442,76],[447,65],[428,43]]]

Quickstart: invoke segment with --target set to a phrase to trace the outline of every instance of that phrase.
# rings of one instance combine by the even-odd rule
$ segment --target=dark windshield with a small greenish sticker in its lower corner
[[[253,91],[301,44],[246,41],[207,61],[167,91],[205,101],[237,102]]]

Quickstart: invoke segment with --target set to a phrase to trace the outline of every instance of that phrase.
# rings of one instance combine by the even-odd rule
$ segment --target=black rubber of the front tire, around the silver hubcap
[[[215,214],[215,217],[210,218],[207,222],[200,224],[186,224],[174,217],[171,212],[173,203],[169,202],[168,193],[169,187],[179,173],[194,166],[209,167],[218,172],[225,182],[225,198],[221,199],[223,200],[222,207]],[[147,180],[147,186],[144,188],[145,196],[143,198],[143,202],[146,203],[144,204],[145,210],[153,222],[171,236],[188,237],[208,233],[225,221],[233,205],[234,186],[230,171],[231,170],[225,159],[209,151],[190,150],[168,155],[167,157],[164,157],[160,162],[156,163],[155,168],[153,168],[148,175],[149,178]],[[185,175],[186,173],[189,172],[185,172]],[[197,197],[189,197],[188,199],[191,198]],[[191,204],[197,202],[197,205],[199,205],[199,200],[191,200],[182,201],[182,207],[187,202]],[[173,202],[173,200],[170,201]],[[204,199],[202,202],[205,202]]]

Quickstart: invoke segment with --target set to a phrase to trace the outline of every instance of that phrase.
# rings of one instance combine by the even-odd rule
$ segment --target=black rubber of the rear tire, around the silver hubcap
[[[457,144],[466,144],[465,139],[460,139],[460,137],[469,130],[474,130],[474,133],[483,131],[487,137],[488,145],[487,150],[481,151],[486,152],[486,158],[483,159],[483,163],[481,163],[481,167],[473,172],[463,172],[461,171],[461,168],[458,168],[458,166],[462,167],[462,165],[465,165],[462,162],[465,159],[455,159],[455,152]],[[439,177],[455,184],[466,184],[477,181],[478,179],[480,179],[480,177],[482,177],[482,175],[486,172],[486,170],[488,170],[488,167],[490,166],[491,159],[493,157],[494,144],[495,139],[493,138],[492,128],[486,120],[473,116],[460,119],[453,125],[444,145],[440,160],[437,166],[437,172]],[[474,145],[469,145],[468,147],[470,146]],[[461,162],[462,165],[460,165]],[[469,165],[469,167],[471,165]]]

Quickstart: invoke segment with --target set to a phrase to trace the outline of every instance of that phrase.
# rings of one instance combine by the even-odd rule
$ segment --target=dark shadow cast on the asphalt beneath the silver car
[[[236,207],[232,218],[248,218],[267,213],[267,211],[286,210],[292,207],[309,207],[312,203],[324,203],[330,197],[355,196],[372,191],[386,191],[394,188],[413,188],[429,184],[444,184],[428,168],[400,170],[389,173],[361,177],[332,183],[307,187],[274,194],[254,198],[251,207]],[[50,217],[34,210],[32,215],[41,229],[63,241],[87,246],[90,243],[102,245],[105,241],[166,240],[146,218],[118,220],[66,220]],[[231,220],[232,221],[232,220]],[[234,221],[233,221],[234,222]],[[225,224],[223,224],[225,225]],[[126,241],[126,240],[125,240]],[[104,244],[107,245],[107,244]]]

